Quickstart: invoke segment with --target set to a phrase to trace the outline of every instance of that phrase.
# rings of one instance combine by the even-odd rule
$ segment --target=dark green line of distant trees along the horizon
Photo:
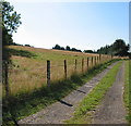
[[[70,48],[69,46],[60,47],[59,45],[56,45],[52,47],[52,49],[57,50],[68,50],[68,51],[76,51],[76,52],[82,52],[79,49],[75,48]],[[102,47],[97,51],[93,50],[84,50],[84,53],[100,53],[100,54],[110,54],[110,55],[118,55],[118,56],[128,56],[130,53],[128,52],[130,49],[130,45],[126,45],[124,40],[122,39],[117,39],[112,45],[108,46],[106,45],[105,47]]]

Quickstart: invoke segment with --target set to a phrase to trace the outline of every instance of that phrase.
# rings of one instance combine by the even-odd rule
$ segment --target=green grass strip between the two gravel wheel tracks
[[[96,109],[96,105],[100,103],[106,91],[110,86],[112,86],[116,80],[116,75],[121,65],[122,61],[117,63],[107,75],[99,81],[99,84],[85,97],[76,109],[73,117],[64,123],[68,124],[87,124],[90,123],[90,117],[92,116],[92,112]],[[90,116],[90,117],[88,117]]]

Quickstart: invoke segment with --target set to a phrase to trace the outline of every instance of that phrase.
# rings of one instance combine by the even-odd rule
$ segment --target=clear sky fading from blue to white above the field
[[[21,45],[51,49],[56,43],[97,50],[116,39],[129,42],[129,2],[11,1],[22,25],[13,34]]]

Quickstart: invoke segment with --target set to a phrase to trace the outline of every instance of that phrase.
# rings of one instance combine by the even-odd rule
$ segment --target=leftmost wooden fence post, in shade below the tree
[[[5,98],[9,101],[8,62],[4,63],[4,66],[5,66]]]

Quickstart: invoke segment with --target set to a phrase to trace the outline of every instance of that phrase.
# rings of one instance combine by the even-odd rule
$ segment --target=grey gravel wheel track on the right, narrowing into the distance
[[[116,81],[106,92],[102,103],[96,108],[92,124],[126,125],[126,109],[123,104],[124,62],[118,71]]]

